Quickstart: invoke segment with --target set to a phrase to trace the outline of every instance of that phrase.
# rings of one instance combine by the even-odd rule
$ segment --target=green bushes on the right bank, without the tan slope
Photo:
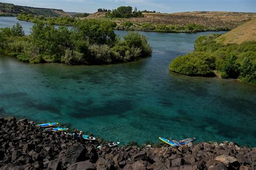
[[[256,84],[256,42],[224,45],[215,42],[218,36],[198,37],[194,45],[195,52],[174,59],[170,70],[189,76],[207,76],[215,70],[222,78],[240,78],[244,83]],[[214,56],[215,66],[213,60],[210,63],[203,62],[209,56]],[[204,73],[200,70],[204,70]]]

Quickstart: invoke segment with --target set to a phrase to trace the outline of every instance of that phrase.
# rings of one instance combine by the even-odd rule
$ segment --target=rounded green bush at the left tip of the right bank
[[[215,57],[206,52],[193,52],[174,59],[170,65],[173,72],[187,76],[212,76]]]

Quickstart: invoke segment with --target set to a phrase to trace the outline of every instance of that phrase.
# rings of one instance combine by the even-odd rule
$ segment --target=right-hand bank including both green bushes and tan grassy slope
[[[200,36],[195,50],[179,56],[170,70],[187,76],[239,78],[256,84],[256,18],[224,35]]]

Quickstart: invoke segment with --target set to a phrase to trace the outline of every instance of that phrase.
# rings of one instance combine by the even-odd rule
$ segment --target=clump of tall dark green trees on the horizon
[[[120,6],[114,10],[108,10],[106,17],[111,18],[131,18],[131,17],[143,17],[142,11],[138,11],[137,8],[132,9],[132,6]]]

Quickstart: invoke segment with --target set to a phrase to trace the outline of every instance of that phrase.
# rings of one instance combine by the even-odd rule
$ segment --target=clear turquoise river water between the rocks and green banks
[[[212,32],[141,33],[153,55],[126,64],[25,64],[0,55],[0,113],[71,124],[122,144],[161,136],[256,146],[254,86],[168,70],[199,35]]]

